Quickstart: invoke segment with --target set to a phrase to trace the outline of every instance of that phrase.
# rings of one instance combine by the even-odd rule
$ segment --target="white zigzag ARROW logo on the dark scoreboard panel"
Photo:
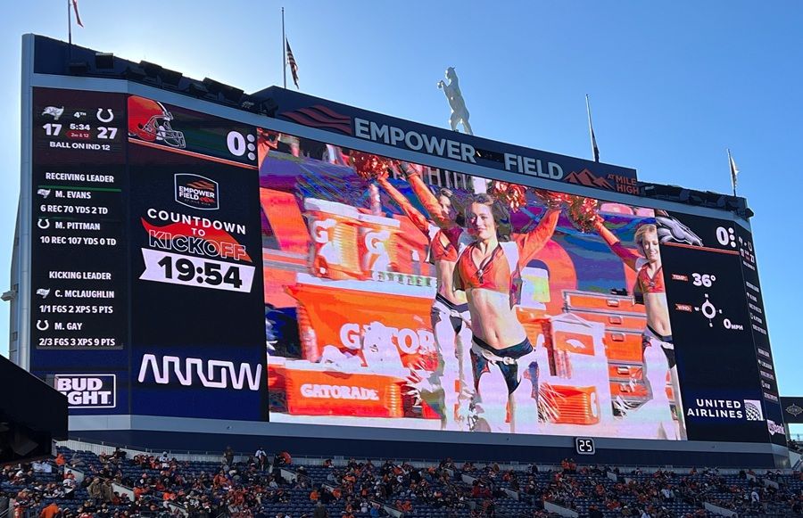
[[[259,391],[262,377],[262,366],[252,366],[241,363],[202,358],[178,358],[177,356],[163,356],[161,361],[156,355],[145,354],[139,366],[140,383],[153,382],[167,385],[177,382],[185,387],[202,385],[208,389],[228,389],[229,386],[237,391],[244,389]]]

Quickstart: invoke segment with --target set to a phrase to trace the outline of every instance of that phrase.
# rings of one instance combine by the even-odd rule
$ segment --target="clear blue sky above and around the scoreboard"
[[[253,92],[282,82],[281,5],[80,0],[86,27],[73,40]],[[66,1],[18,3],[5,20],[0,272],[11,264],[19,195],[21,35],[66,39]],[[435,83],[454,66],[479,136],[589,157],[589,94],[601,159],[642,180],[729,193],[730,147],[756,213],[780,387],[803,394],[803,276],[786,263],[803,251],[803,3],[287,2],[286,29],[302,91],[341,103],[444,127]],[[3,354],[7,336],[2,305]]]

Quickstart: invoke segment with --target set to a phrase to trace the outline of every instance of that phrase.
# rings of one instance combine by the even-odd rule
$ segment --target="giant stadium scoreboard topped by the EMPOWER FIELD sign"
[[[784,462],[743,213],[277,87],[227,105],[186,78],[70,74],[94,52],[23,44],[11,350],[76,436]]]

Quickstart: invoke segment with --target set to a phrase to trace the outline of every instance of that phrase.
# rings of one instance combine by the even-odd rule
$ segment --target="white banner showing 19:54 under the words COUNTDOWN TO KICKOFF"
[[[253,267],[163,251],[143,249],[145,272],[139,276],[157,283],[251,292]]]

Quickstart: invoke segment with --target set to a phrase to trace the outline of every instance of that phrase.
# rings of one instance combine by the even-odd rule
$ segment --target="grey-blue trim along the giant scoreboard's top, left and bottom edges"
[[[45,87],[54,87],[54,88],[66,88],[66,89],[88,89],[88,90],[97,90],[97,91],[104,91],[104,92],[117,92],[117,93],[127,93],[127,94],[134,94],[134,95],[144,95],[155,100],[159,100],[162,103],[170,103],[176,104],[178,106],[184,107],[190,110],[196,111],[203,111],[210,115],[221,117],[225,119],[232,119],[238,122],[242,122],[244,124],[250,124],[255,127],[266,127],[269,129],[282,131],[298,136],[304,136],[306,138],[319,140],[335,145],[342,145],[344,147],[350,147],[354,149],[360,149],[364,152],[373,152],[383,156],[392,157],[400,160],[410,160],[416,161],[418,163],[426,164],[430,167],[441,168],[441,169],[448,169],[448,170],[458,170],[459,172],[465,172],[468,174],[486,177],[491,179],[499,179],[502,181],[509,181],[509,182],[517,182],[522,185],[530,185],[534,187],[540,188],[552,188],[552,189],[559,189],[561,191],[567,193],[574,193],[579,195],[585,196],[592,196],[595,198],[604,198],[608,201],[619,201],[622,203],[629,203],[633,205],[643,205],[644,198],[639,196],[634,196],[631,194],[624,194],[624,193],[613,193],[613,192],[606,192],[601,191],[599,189],[592,189],[584,187],[583,185],[571,185],[571,184],[556,184],[554,181],[544,180],[538,177],[520,175],[517,173],[510,173],[508,171],[499,170],[499,169],[490,169],[485,168],[482,166],[471,165],[463,168],[456,168],[456,162],[454,160],[448,160],[441,157],[433,156],[433,155],[425,155],[418,152],[410,152],[409,150],[392,147],[385,144],[377,144],[375,142],[369,142],[366,140],[355,139],[350,136],[339,136],[335,133],[323,131],[315,128],[310,127],[303,127],[292,122],[288,122],[286,120],[281,119],[269,119],[264,116],[256,115],[246,111],[236,110],[234,108],[228,108],[226,106],[216,104],[216,103],[209,103],[205,101],[201,101],[198,99],[194,99],[188,97],[186,95],[181,95],[175,92],[170,92],[166,90],[162,90],[159,88],[154,88],[151,86],[145,86],[137,83],[131,83],[121,79],[104,79],[104,78],[75,78],[75,77],[68,77],[68,76],[54,76],[49,74],[37,74],[34,73],[34,56],[33,56],[33,47],[34,47],[35,38],[32,35],[28,35],[23,38],[23,60],[22,60],[22,181],[21,181],[21,189],[23,193],[30,193],[30,142],[31,142],[31,121],[30,121],[30,113],[31,113],[31,92],[32,87],[34,86],[45,86]],[[708,209],[703,207],[691,207],[689,205],[675,203],[671,201],[660,201],[655,199],[648,199],[649,205],[651,208],[655,209],[664,209],[664,210],[675,210],[679,212],[684,212],[688,214],[694,214],[699,216],[704,216],[708,218],[721,218],[721,219],[728,219],[732,220],[735,224],[741,226],[742,228],[749,230],[749,222],[736,217],[733,213],[724,212],[720,210]],[[29,243],[29,236],[30,236],[30,214],[31,214],[31,200],[29,198],[26,199],[26,196],[22,197],[21,200],[21,214],[22,219],[20,221],[20,230],[21,230],[21,249],[22,249],[22,257],[29,258],[30,253],[30,243]],[[28,241],[26,241],[28,240]],[[19,267],[19,266],[18,266]],[[19,272],[18,272],[19,273]],[[21,297],[19,299],[19,305],[15,311],[12,312],[12,319],[14,322],[12,323],[12,331],[18,332],[18,341],[12,344],[12,354],[16,355],[18,363],[21,363],[22,366],[29,367],[29,343],[24,343],[27,340],[26,337],[29,336],[29,308],[30,308],[30,285],[23,285],[27,282],[27,279],[23,279],[23,283],[21,284]],[[26,349],[28,348],[28,349]],[[206,433],[228,433],[232,434],[232,438],[239,436],[237,432],[237,427],[228,427],[228,429],[220,430],[221,423],[209,423],[212,420],[196,420],[196,419],[178,419],[169,418],[169,417],[151,417],[150,419],[154,420],[153,423],[161,423],[159,425],[149,425],[145,426],[144,428],[150,428],[152,432],[148,433],[135,433],[137,428],[142,428],[141,423],[137,424],[137,419],[134,419],[135,416],[125,416],[120,415],[119,417],[131,417],[128,420],[128,426],[123,426],[120,432],[122,433],[132,433],[132,438],[137,436],[141,437],[142,440],[146,440],[147,437],[151,437],[155,440],[156,436],[153,435],[153,431],[155,430],[175,430],[176,432],[204,432]],[[79,416],[77,418],[71,418],[71,423],[73,423],[72,428],[74,430],[85,430],[87,432],[91,432],[93,429],[101,430],[104,428],[106,416],[103,415],[92,415],[92,416]],[[184,423],[183,425],[181,423]],[[111,424],[111,423],[109,423]],[[289,432],[289,429],[286,428],[286,425],[281,425],[279,423],[251,423],[256,425],[258,428],[249,432],[248,435],[261,435],[261,436],[269,436],[269,435],[280,435],[285,436],[286,433]],[[173,426],[173,428],[171,428]],[[116,426],[110,425],[110,429],[118,428]],[[338,438],[346,438],[351,436],[351,433],[344,434],[343,427],[321,427],[319,425],[294,425],[293,427],[294,432],[293,434],[296,436],[310,436],[310,437],[319,437],[319,438],[327,438],[328,440],[337,440]],[[126,432],[128,430],[128,432]],[[364,429],[364,432],[360,431],[357,433],[353,438],[359,439],[363,433],[366,436],[363,440],[368,439],[368,432],[377,432],[377,429]],[[102,432],[101,432],[102,433]],[[393,431],[393,440],[385,440],[385,444],[389,444],[390,442],[417,442],[420,439],[420,431]],[[438,432],[438,433],[447,433],[448,432]],[[80,435],[80,432],[77,432],[77,435]],[[442,435],[435,440],[435,438],[431,438],[432,442],[435,443],[442,443],[445,444],[449,437],[447,435]],[[457,439],[457,438],[454,438]],[[572,438],[570,437],[543,437],[543,436],[513,436],[508,434],[460,434],[459,442],[462,444],[466,443],[474,443],[477,446],[484,446],[489,448],[498,448],[501,446],[506,445],[514,445],[517,444],[523,448],[534,448],[534,447],[557,447],[557,444],[551,444],[551,440],[567,440],[571,441]],[[152,442],[148,440],[148,442]],[[600,450],[605,450],[605,448],[617,449],[617,450],[627,450],[627,449],[643,449],[647,451],[655,451],[666,449],[667,446],[671,446],[668,448],[672,450],[675,455],[683,455],[684,453],[689,452],[700,452],[701,450],[711,449],[711,448],[719,448],[719,451],[722,453],[727,453],[729,455],[739,455],[742,458],[758,458],[760,456],[761,460],[753,462],[750,461],[749,465],[775,465],[781,467],[784,465],[784,455],[783,452],[786,451],[785,448],[773,447],[769,448],[770,443],[738,443],[729,445],[727,443],[716,443],[716,442],[707,442],[707,441],[669,441],[671,445],[666,444],[667,441],[660,441],[660,440],[627,440],[627,439],[607,439],[602,440],[598,439],[598,448]],[[340,448],[338,448],[340,449]],[[696,460],[696,459],[695,459]],[[658,459],[655,459],[658,462]],[[621,461],[625,462],[625,461]],[[680,464],[679,461],[675,458],[675,464]],[[710,464],[706,462],[700,462],[700,465]],[[717,463],[720,465],[724,465],[724,463]]]

